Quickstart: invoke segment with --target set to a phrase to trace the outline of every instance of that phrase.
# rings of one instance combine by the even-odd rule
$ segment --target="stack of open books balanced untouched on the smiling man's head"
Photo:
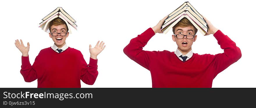
[[[67,27],[69,29],[69,32],[71,33],[71,28],[70,25],[77,30],[77,25],[75,24],[76,21],[69,15],[67,14],[66,11],[64,11],[61,7],[56,8],[54,11],[52,11],[50,14],[48,14],[47,16],[45,16],[42,20],[42,22],[40,23],[40,28],[42,28],[42,30],[44,30],[45,32],[49,33],[49,23],[54,20],[55,18],[61,18],[63,19],[66,24]]]

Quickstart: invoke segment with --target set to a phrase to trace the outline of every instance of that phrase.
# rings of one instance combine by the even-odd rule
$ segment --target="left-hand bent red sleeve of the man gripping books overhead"
[[[136,38],[131,39],[130,43],[123,50],[130,59],[148,70],[150,70],[150,55],[154,54],[155,51],[144,51],[142,49],[154,35],[155,33],[152,28],[149,28]]]

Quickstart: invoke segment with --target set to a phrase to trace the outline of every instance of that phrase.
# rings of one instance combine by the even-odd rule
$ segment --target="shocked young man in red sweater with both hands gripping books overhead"
[[[186,18],[173,27],[172,39],[178,46],[176,51],[144,51],[143,47],[155,33],[163,33],[161,25],[166,18],[167,16],[156,26],[131,39],[124,48],[124,53],[130,59],[150,70],[152,87],[212,87],[216,75],[241,58],[241,51],[235,42],[206,18],[204,19],[209,26],[206,35],[213,34],[224,53],[193,53],[191,46],[197,38],[197,29]]]

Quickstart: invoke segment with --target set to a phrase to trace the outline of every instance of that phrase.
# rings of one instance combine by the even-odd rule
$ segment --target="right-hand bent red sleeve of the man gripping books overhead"
[[[241,58],[241,51],[227,35],[224,35],[220,30],[214,33],[214,37],[224,49],[224,53],[214,55],[214,66],[216,69],[215,76],[226,69],[228,66],[237,62]]]

